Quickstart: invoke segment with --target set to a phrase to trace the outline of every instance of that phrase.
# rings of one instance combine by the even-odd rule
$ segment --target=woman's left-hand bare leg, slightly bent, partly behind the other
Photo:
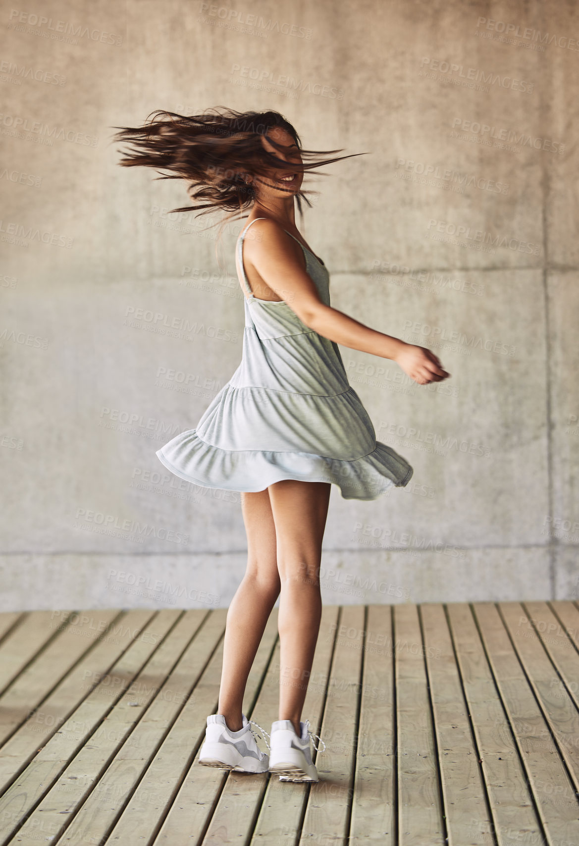
[[[218,704],[218,713],[223,714],[232,732],[241,728],[245,684],[280,590],[267,488],[241,493],[241,512],[247,536],[247,569],[227,612]]]

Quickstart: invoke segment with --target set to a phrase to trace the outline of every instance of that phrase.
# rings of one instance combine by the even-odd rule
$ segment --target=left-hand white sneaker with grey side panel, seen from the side
[[[248,720],[245,714],[242,714],[242,720],[243,726],[240,730],[231,732],[223,714],[211,714],[207,717],[205,741],[199,751],[200,764],[235,772],[267,772],[269,761],[266,753],[256,744],[256,735],[251,724],[257,726],[263,735],[267,732],[253,720]],[[263,739],[265,740],[265,737]],[[269,749],[267,740],[265,744]]]

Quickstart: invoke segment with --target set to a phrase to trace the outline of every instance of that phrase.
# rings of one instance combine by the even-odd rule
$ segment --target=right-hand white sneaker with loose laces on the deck
[[[269,750],[269,772],[279,776],[280,782],[317,782],[317,769],[312,761],[310,739],[317,750],[313,739],[317,737],[310,731],[310,721],[300,723],[301,737],[295,733],[291,720],[276,720],[272,723],[272,742]],[[326,744],[323,743],[323,748]]]

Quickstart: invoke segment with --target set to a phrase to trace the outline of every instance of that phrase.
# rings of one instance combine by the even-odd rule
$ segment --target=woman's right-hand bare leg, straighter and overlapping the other
[[[300,734],[322,616],[319,568],[331,485],[284,479],[268,490],[281,580],[278,719],[291,720]]]

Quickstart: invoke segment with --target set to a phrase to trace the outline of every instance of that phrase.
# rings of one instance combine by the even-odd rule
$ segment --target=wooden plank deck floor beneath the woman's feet
[[[226,613],[0,614],[0,846],[579,843],[576,602],[324,607],[317,784],[199,766]],[[279,681],[274,609],[266,731]]]

